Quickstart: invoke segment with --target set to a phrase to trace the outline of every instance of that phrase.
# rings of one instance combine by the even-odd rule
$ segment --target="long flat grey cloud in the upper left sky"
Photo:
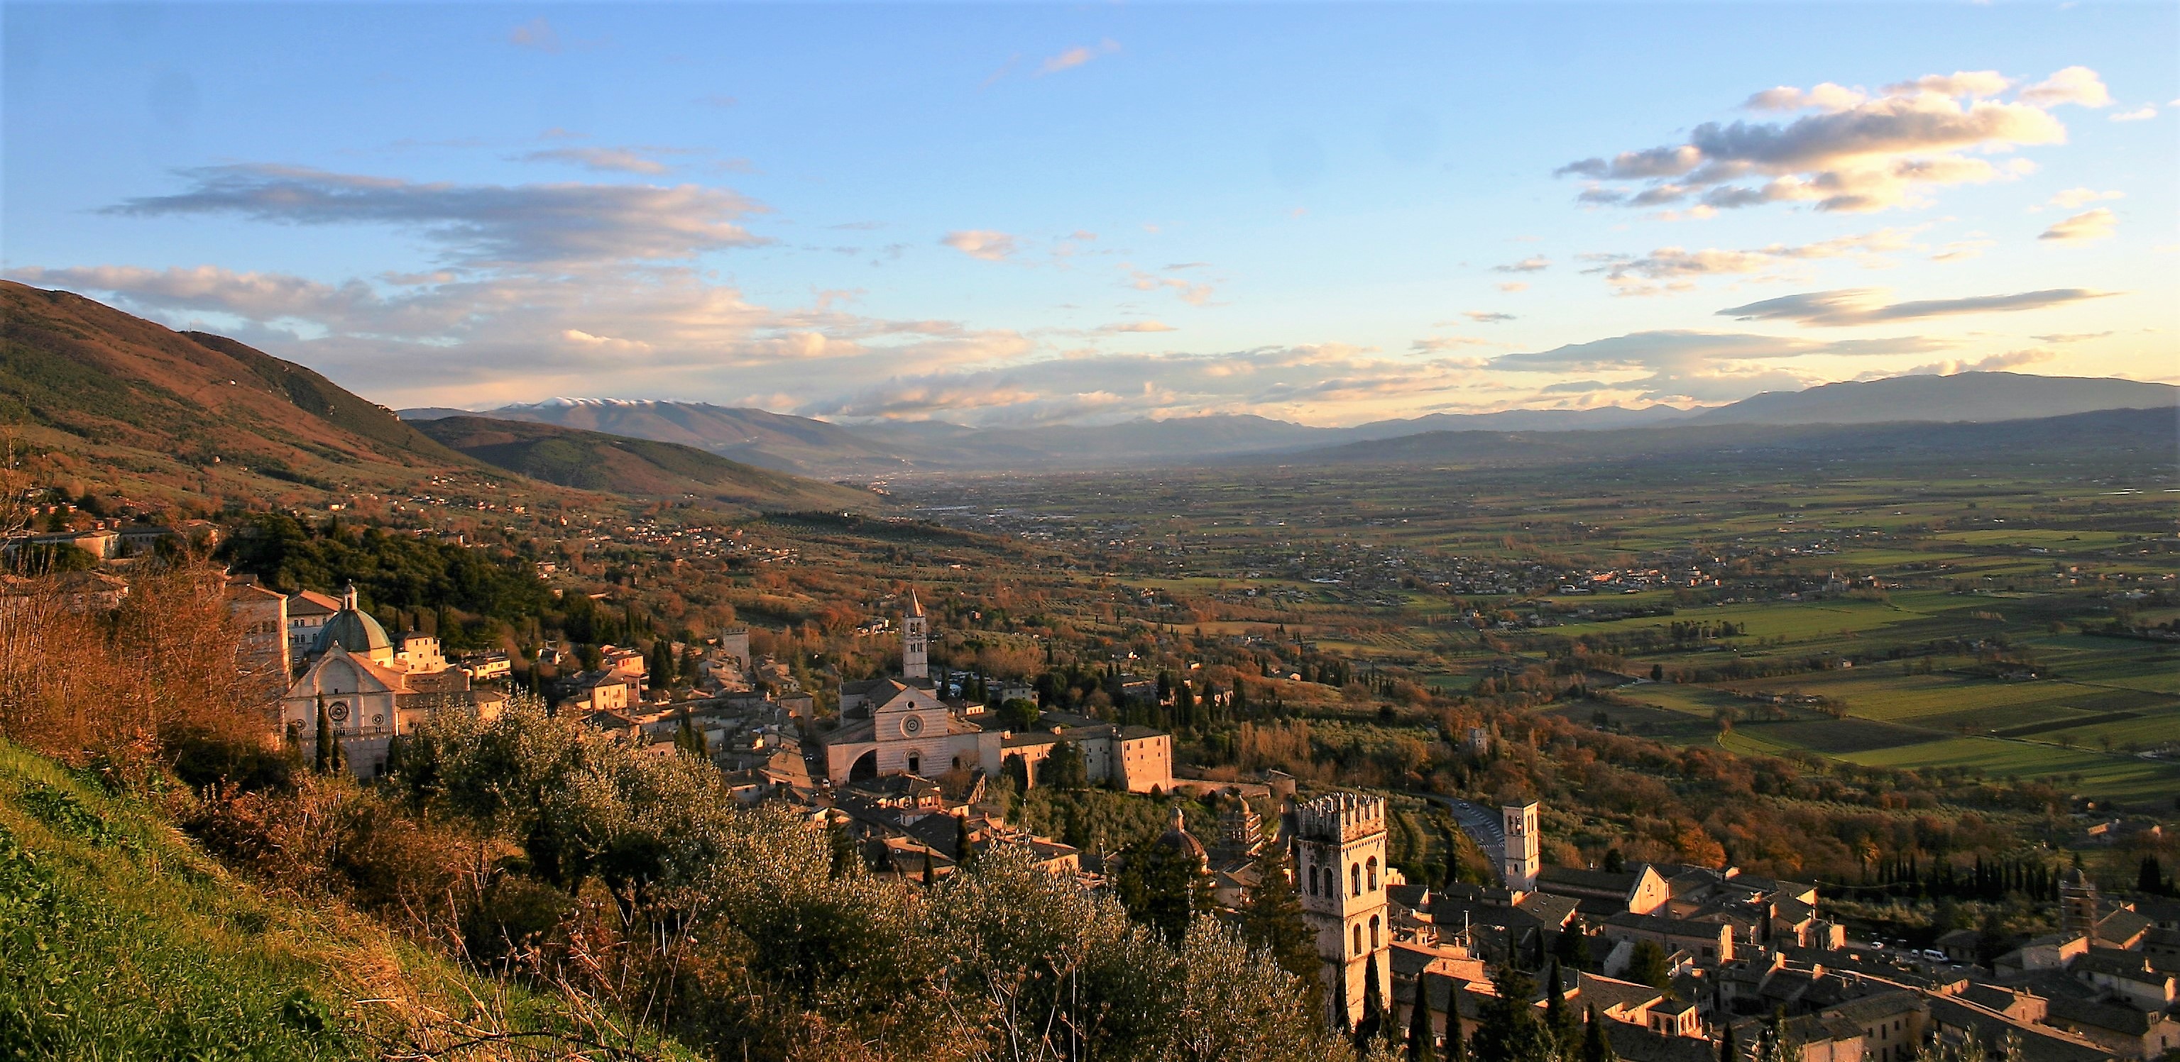
[[[410,183],[299,166],[205,166],[183,177],[192,188],[181,194],[129,198],[105,214],[395,225],[475,266],[680,260],[767,242],[737,225],[765,207],[724,188]]]

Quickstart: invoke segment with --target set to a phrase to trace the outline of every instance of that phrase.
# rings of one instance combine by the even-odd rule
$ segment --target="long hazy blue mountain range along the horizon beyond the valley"
[[[1696,425],[1853,425],[1908,421],[2021,421],[2121,408],[2173,408],[2180,388],[2132,379],[2023,373],[1912,375],[1764,393],[1731,406],[1594,410],[1504,410],[1310,427],[1247,414],[1138,419],[1110,425],[964,427],[944,421],[835,425],[809,417],[689,401],[552,399],[467,414],[401,410],[403,419],[491,417],[682,443],[746,464],[804,475],[892,471],[1001,471],[1186,464],[1249,454],[1312,454],[1424,434],[1628,432]],[[1637,436],[1631,436],[1637,438]],[[1587,443],[1567,441],[1583,449]],[[1397,447],[1393,447],[1397,449]]]

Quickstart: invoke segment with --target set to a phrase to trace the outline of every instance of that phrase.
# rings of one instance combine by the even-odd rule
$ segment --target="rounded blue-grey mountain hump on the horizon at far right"
[[[1903,375],[1809,390],[1766,390],[1687,423],[2025,421],[2095,410],[2171,408],[2180,388],[2134,379],[1955,373]]]

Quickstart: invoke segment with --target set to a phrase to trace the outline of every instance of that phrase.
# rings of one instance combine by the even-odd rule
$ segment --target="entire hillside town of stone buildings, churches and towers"
[[[70,545],[126,558],[164,536],[214,534],[211,526],[120,528],[70,532]],[[85,608],[126,593],[111,571],[68,578]],[[432,635],[388,632],[353,587],[277,593],[238,576],[229,602],[246,665],[281,685],[268,741],[305,757],[336,744],[358,779],[386,772],[395,739],[434,713],[495,717],[514,696],[504,652],[447,656]],[[1454,798],[1437,800],[1495,855],[1495,881],[1406,881],[1389,859],[1384,796],[1301,792],[1280,772],[1188,779],[1173,735],[1066,711],[1009,726],[1005,704],[1036,691],[933,667],[931,617],[913,593],[898,617],[861,632],[898,637],[900,669],[844,683],[824,717],[780,661],[752,656],[748,628],[671,645],[693,665],[693,685],[678,691],[652,685],[645,652],[604,645],[547,693],[554,711],[641,755],[708,759],[737,800],[787,802],[813,829],[846,831],[876,872],[905,883],[1014,844],[1053,874],[1110,888],[1125,853],[1009,824],[988,800],[998,779],[1027,792],[1064,774],[1075,785],[1216,805],[1216,831],[1197,837],[1175,800],[1158,844],[1227,914],[1264,885],[1264,866],[1282,866],[1323,960],[1328,1021],[1341,1027],[1362,1018],[1369,986],[1384,986],[1397,1027],[1424,1005],[1439,1045],[1474,1038],[1495,997],[1493,970],[1515,966],[1537,973],[1533,1005],[1594,1010],[1611,1023],[1611,1051],[1635,1062],[1716,1062],[1722,1045],[1751,1055],[1759,1042],[1801,1062],[1908,1062],[1931,1040],[2025,1062],[2154,1060],[2180,1049],[2171,896],[2104,894],[2075,870],[2060,883],[2056,933],[2006,940],[1990,955],[1990,940],[1960,929],[1910,951],[1849,940],[1825,916],[1816,883],[1731,866],[1543,866],[1539,805]],[[1121,687],[1160,696],[1151,680]],[[1474,731],[1461,748],[1489,755],[1495,739]],[[1267,864],[1267,848],[1286,859]]]

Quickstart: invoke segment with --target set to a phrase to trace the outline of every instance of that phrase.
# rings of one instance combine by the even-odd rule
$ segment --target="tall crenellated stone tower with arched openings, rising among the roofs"
[[[1295,809],[1293,866],[1301,916],[1325,960],[1328,1018],[1362,1018],[1367,970],[1378,966],[1380,1005],[1393,1005],[1393,920],[1386,890],[1386,809],[1382,796],[1330,794]],[[1345,1007],[1345,1010],[1343,1010]]]

